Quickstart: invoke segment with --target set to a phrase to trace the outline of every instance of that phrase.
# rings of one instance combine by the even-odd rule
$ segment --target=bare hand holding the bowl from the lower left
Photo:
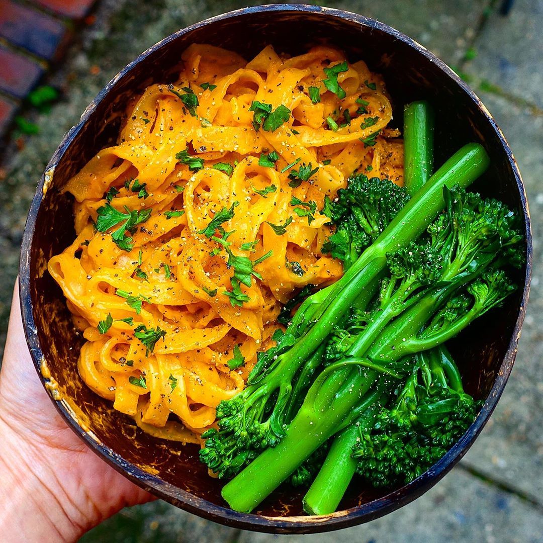
[[[153,497],[100,459],[68,428],[36,374],[11,304],[0,371],[2,541],[77,541],[125,506]]]

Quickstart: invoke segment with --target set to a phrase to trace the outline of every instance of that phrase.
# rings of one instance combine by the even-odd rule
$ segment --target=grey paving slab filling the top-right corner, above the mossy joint
[[[542,24],[543,0],[516,0],[507,16],[494,10],[466,71],[543,108]]]

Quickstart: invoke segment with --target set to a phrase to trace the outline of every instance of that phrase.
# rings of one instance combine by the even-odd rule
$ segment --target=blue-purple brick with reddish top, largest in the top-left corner
[[[30,53],[52,59],[66,27],[55,18],[11,0],[0,0],[0,36]]]

